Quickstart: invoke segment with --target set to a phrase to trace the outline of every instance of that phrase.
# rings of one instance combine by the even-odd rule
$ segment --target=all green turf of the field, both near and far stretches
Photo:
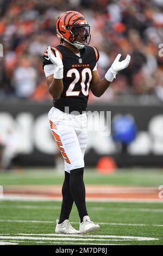
[[[0,185],[62,184],[63,175],[47,171],[0,173]],[[120,171],[101,176],[92,170],[85,173],[86,184],[160,186],[161,170]],[[9,201],[0,199],[0,245],[163,245],[162,203],[87,202],[91,219],[101,228],[92,235],[55,235],[55,220],[61,202]],[[79,228],[77,209],[73,206],[70,221]]]

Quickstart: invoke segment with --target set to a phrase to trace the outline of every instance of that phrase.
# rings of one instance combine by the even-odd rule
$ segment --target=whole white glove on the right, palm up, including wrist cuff
[[[122,60],[122,62],[119,62],[120,58],[121,58],[121,54],[119,53],[115,58],[114,62],[112,63],[110,69],[105,74],[105,79],[108,80],[109,82],[112,82],[112,80],[116,78],[118,71],[126,69],[130,63],[131,57],[129,54],[127,54],[126,59]]]

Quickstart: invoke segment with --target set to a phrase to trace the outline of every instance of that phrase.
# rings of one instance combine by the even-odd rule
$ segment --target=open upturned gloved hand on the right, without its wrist
[[[129,63],[130,63],[131,57],[130,57],[129,54],[127,54],[126,59],[122,60],[122,62],[119,61],[120,58],[121,58],[121,54],[119,53],[119,54],[117,55],[117,57],[115,58],[114,62],[112,63],[112,65],[111,65],[111,69],[112,69],[114,72],[118,72],[118,71],[120,71],[120,70],[126,69],[127,66],[128,66]]]

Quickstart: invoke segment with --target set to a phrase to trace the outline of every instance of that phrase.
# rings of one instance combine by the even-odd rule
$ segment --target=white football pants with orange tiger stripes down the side
[[[87,116],[68,114],[52,107],[48,113],[52,134],[64,158],[65,171],[84,167]]]

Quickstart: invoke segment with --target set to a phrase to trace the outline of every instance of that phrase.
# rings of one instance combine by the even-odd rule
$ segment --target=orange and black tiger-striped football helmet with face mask
[[[91,39],[90,26],[85,17],[77,11],[62,13],[57,19],[56,28],[61,41],[67,41],[77,48],[89,45]],[[80,40],[77,39],[77,36],[80,36]]]

